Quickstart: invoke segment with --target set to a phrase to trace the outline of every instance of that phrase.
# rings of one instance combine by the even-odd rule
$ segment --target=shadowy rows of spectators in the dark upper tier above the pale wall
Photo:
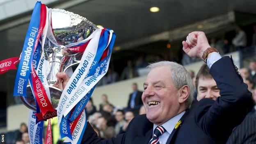
[[[219,36],[210,37],[210,46],[216,48],[220,55],[224,55],[236,50],[243,50],[248,46],[256,45],[256,24],[251,26],[251,30],[253,31],[253,34],[248,34],[248,32],[243,30],[243,27],[236,25],[235,30],[233,31],[223,32],[222,34],[219,34]],[[145,68],[148,65],[148,62],[159,62],[164,59],[181,62],[182,65],[187,65],[192,62],[201,61],[199,58],[188,57],[185,53],[182,57],[179,57],[180,60],[176,59],[175,54],[170,54],[169,57],[155,55],[153,58],[151,58],[151,60],[146,62],[146,56],[147,55],[143,54],[137,59],[128,59],[126,64],[124,64],[126,66],[123,68],[121,73],[117,73],[114,71],[114,66],[110,66],[107,74],[100,82],[98,82],[98,86],[141,76],[139,70]]]

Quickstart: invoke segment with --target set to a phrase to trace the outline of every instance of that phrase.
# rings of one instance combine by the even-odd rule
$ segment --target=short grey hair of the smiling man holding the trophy
[[[184,85],[187,85],[189,87],[189,96],[187,97],[187,100],[185,101],[185,106],[186,108],[190,108],[190,105],[193,101],[193,85],[192,85],[192,80],[190,78],[189,73],[185,69],[184,66],[181,64],[178,64],[176,62],[169,62],[169,61],[161,61],[161,62],[156,62],[153,64],[149,64],[147,68],[149,69],[154,69],[162,66],[168,66],[169,67],[169,73],[171,75],[171,80],[175,86],[176,89],[180,89]]]

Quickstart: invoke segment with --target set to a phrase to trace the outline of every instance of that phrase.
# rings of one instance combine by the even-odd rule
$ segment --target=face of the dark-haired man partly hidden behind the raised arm
[[[219,89],[213,78],[199,78],[197,91],[197,101],[203,98],[216,100],[220,96]]]

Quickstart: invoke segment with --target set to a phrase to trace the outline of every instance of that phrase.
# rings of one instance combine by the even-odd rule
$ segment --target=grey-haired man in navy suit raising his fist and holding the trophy
[[[203,32],[192,32],[183,41],[190,57],[207,61],[221,97],[204,98],[190,111],[192,80],[186,69],[175,62],[151,64],[142,94],[146,115],[135,117],[126,133],[100,139],[89,123],[83,144],[215,144],[225,143],[233,128],[253,107],[251,93],[229,57],[221,58],[209,48]]]

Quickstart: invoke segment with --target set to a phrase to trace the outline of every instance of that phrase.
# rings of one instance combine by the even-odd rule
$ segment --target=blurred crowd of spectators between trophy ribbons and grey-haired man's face
[[[137,95],[138,99],[141,99],[142,93],[138,92],[137,84],[133,84],[133,88],[133,93],[137,91],[136,94],[139,94]],[[133,93],[131,94],[131,97],[133,97]],[[88,121],[89,123],[91,123],[98,136],[104,139],[109,139],[118,134],[125,133],[129,122],[136,115],[146,113],[142,103],[136,103],[135,105],[135,97],[131,98],[133,100],[129,100],[134,101],[130,102],[134,103],[132,104],[133,106],[130,106],[130,103],[128,102],[128,106],[126,108],[119,109],[109,103],[107,95],[103,94],[102,103],[99,105],[98,111],[94,111],[94,113],[91,113],[91,111],[88,112],[86,108],[86,113],[88,114]],[[90,101],[92,101],[92,99],[90,99]],[[94,105],[91,105],[91,103],[89,104],[90,107],[95,107]]]

